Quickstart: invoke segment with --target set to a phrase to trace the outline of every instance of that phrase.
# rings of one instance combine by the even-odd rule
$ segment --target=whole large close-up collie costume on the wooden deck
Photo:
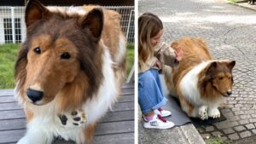
[[[64,10],[27,3],[26,41],[15,65],[16,97],[27,118],[19,144],[50,144],[57,136],[91,142],[125,79],[119,18],[96,6]]]

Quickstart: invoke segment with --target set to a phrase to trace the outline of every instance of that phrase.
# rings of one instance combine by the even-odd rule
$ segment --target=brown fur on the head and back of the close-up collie
[[[80,107],[83,101],[96,95],[102,82],[101,55],[105,48],[98,43],[100,38],[107,42],[105,44],[113,57],[118,55],[114,51],[118,49],[116,37],[122,34],[118,31],[119,14],[104,10],[110,15],[104,14],[101,21],[97,19],[101,17],[99,10],[92,9],[81,16],[51,12],[38,1],[31,3],[26,8],[26,41],[20,48],[15,64],[15,78],[19,82],[17,89],[26,100],[26,89],[39,85],[44,90],[42,104],[52,101],[58,94],[60,110]],[[113,31],[110,27],[118,30],[108,36],[108,32]],[[42,55],[35,54],[34,49],[37,47],[40,47]],[[71,58],[60,60],[60,55],[65,52]],[[117,61],[120,65],[118,68],[124,67],[125,58],[123,61],[122,64]],[[122,74],[125,72],[119,69]],[[124,77],[119,78],[120,83],[123,80]],[[72,105],[70,101],[73,101]]]

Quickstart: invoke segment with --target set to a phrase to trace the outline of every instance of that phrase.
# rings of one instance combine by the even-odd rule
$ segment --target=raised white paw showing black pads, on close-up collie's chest
[[[86,122],[86,114],[85,112],[73,111],[73,112],[64,112],[59,115],[61,120],[61,124],[64,127],[74,127],[74,126],[81,126]]]

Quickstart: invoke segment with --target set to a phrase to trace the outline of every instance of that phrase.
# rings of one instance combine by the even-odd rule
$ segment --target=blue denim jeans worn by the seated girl
[[[143,114],[166,105],[157,69],[149,69],[138,74],[138,103]]]

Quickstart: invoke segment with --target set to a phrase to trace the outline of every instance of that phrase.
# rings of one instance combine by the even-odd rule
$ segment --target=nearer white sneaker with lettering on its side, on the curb
[[[150,129],[170,129],[173,126],[172,122],[162,118],[159,114],[155,114],[152,120],[144,122],[144,128]]]

